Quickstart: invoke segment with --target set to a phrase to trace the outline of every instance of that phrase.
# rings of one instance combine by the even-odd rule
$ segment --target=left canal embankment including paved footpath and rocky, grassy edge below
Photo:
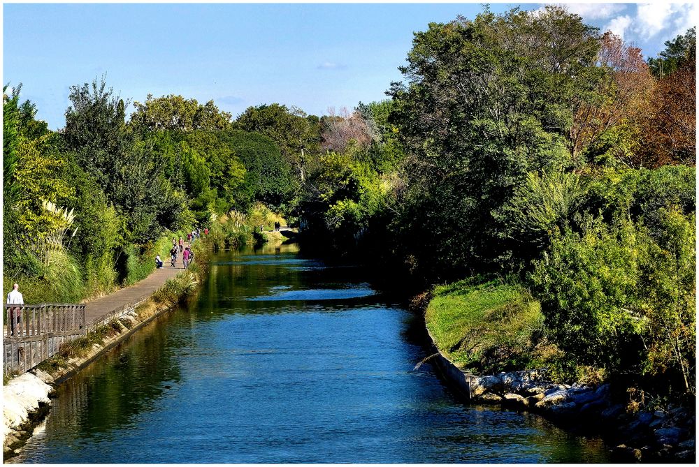
[[[99,359],[131,334],[191,295],[206,274],[210,245],[192,246],[196,262],[187,269],[155,269],[133,286],[117,290],[86,306],[87,333],[62,344],[57,355],[3,385],[3,458],[13,457],[50,410],[57,385]]]

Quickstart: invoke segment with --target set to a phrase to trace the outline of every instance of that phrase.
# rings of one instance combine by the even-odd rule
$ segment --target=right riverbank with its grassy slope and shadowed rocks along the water
[[[511,347],[510,353],[505,350],[504,343],[512,343],[508,336],[519,336],[520,343],[531,346],[536,329],[531,323],[538,322],[536,306],[521,290],[497,281],[477,286],[462,282],[435,288],[434,295],[422,295],[415,303],[424,312],[433,346],[431,361],[469,401],[538,413],[566,429],[603,436],[619,461],[695,461],[696,414],[691,408],[643,408],[629,400],[626,387],[619,383],[563,384],[554,381],[547,369],[485,376],[467,369],[492,369],[517,361]],[[493,329],[503,335],[494,339]],[[529,336],[521,329],[528,329]],[[519,347],[520,352],[527,349],[524,344]],[[542,355],[530,355],[528,361],[542,362]]]

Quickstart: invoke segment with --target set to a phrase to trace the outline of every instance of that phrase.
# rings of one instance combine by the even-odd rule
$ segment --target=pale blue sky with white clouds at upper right
[[[501,12],[540,3],[491,3]],[[586,22],[654,56],[696,24],[693,3],[570,3]],[[311,114],[385,98],[412,32],[478,3],[58,4],[3,6],[3,83],[22,83],[52,129],[65,124],[69,87],[106,73],[116,94],[213,99],[236,117],[283,103]]]

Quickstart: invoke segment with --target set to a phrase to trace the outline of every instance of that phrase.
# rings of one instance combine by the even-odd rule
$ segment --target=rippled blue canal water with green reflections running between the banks
[[[419,318],[296,244],[224,252],[199,295],[64,383],[11,462],[605,462],[600,440],[470,406]]]

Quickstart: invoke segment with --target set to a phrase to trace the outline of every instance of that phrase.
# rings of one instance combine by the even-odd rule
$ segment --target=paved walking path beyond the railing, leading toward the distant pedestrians
[[[185,243],[185,247],[189,244]],[[147,276],[142,281],[135,283],[133,286],[122,288],[116,292],[110,293],[105,297],[86,302],[85,306],[85,323],[87,327],[94,323],[105,323],[110,319],[118,317],[122,311],[134,308],[140,302],[147,299],[153,292],[161,288],[165,281],[174,277],[178,272],[182,272],[184,265],[182,264],[182,253],[178,255],[178,262],[175,267],[171,267],[170,258],[163,258],[163,267],[155,269],[154,272]],[[155,261],[155,259],[153,259]]]

